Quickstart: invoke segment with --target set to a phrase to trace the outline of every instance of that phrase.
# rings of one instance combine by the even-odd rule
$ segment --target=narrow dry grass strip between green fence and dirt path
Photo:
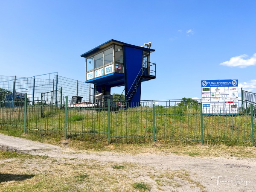
[[[250,146],[227,146],[219,144],[201,145],[199,143],[168,143],[168,142],[151,142],[151,143],[113,143],[108,145],[108,140],[102,137],[88,138],[88,140],[67,139],[58,135],[23,134],[22,131],[5,131],[0,133],[35,140],[42,143],[68,147],[75,150],[87,151],[111,151],[128,154],[176,154],[193,157],[242,157],[256,158],[256,147]]]

